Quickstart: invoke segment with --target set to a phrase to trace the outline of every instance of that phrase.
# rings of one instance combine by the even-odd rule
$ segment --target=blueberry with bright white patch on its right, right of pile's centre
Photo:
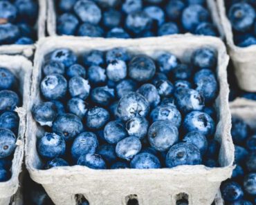
[[[189,113],[193,110],[202,110],[204,106],[203,96],[190,88],[179,88],[175,92],[176,106],[182,113]]]

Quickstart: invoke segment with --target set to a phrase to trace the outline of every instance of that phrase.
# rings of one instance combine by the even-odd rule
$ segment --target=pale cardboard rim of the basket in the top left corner
[[[37,30],[37,39],[41,39],[46,36],[46,0],[38,0],[38,17],[35,25]],[[35,50],[35,44],[32,45],[0,45],[0,55],[24,55],[25,57],[31,57]]]

